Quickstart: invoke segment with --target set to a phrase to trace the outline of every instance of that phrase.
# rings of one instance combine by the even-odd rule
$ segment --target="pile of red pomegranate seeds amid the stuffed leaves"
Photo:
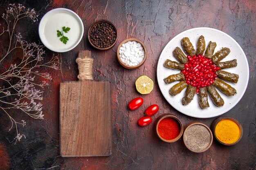
[[[185,64],[184,74],[186,83],[196,87],[196,93],[199,88],[210,86],[217,78],[216,71],[220,70],[213,61],[204,55],[187,56],[189,62]]]

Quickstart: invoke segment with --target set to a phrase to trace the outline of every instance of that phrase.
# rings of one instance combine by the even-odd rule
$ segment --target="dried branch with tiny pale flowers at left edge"
[[[22,39],[20,33],[16,33],[16,25],[20,19],[28,18],[33,22],[38,21],[38,15],[34,9],[26,9],[21,4],[9,4],[9,6],[6,13],[2,15],[6,27],[3,27],[0,33],[0,36],[8,33],[9,43],[6,53],[0,57],[0,65],[3,65],[3,62],[15,51],[22,51],[22,60],[17,64],[10,64],[8,69],[0,71],[0,110],[2,110],[0,113],[6,114],[10,119],[9,131],[15,126],[16,137],[13,141],[16,144],[22,137],[25,137],[24,134],[20,135],[18,132],[18,125],[25,126],[26,122],[24,120],[16,121],[11,115],[14,113],[11,110],[17,109],[34,119],[43,119],[42,104],[39,101],[43,100],[42,88],[49,84],[46,81],[38,83],[34,80],[36,77],[52,79],[49,73],[40,73],[38,68],[48,67],[57,70],[59,62],[57,56],[44,62],[43,46],[35,42],[28,43]]]

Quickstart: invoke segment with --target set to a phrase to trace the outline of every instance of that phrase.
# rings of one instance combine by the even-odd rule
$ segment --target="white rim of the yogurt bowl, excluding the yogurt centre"
[[[49,43],[47,43],[47,40],[45,38],[45,33],[43,31],[46,21],[47,21],[47,17],[49,18],[50,16],[54,15],[55,13],[59,13],[59,12],[65,12],[65,13],[69,13],[70,15],[72,15],[74,18],[76,18],[76,20],[79,22],[79,27],[81,28],[81,32],[79,34],[79,39],[76,41],[75,44],[73,44],[72,46],[70,46],[70,48],[68,49],[56,49],[54,47],[52,47],[51,45],[49,45]],[[50,11],[48,11],[47,13],[45,13],[45,15],[43,15],[43,17],[41,18],[39,25],[38,25],[38,34],[39,34],[39,38],[41,40],[41,42],[44,44],[44,46],[54,52],[58,52],[58,53],[64,53],[67,51],[71,51],[72,49],[74,49],[82,40],[83,38],[83,32],[84,32],[84,27],[83,27],[83,22],[81,20],[81,18],[79,17],[79,15],[77,15],[74,11],[70,10],[70,9],[66,9],[66,8],[56,8],[56,9],[52,9]]]

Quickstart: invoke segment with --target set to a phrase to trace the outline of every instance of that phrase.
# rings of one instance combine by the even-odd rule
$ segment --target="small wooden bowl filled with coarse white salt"
[[[137,38],[128,38],[122,41],[117,48],[117,60],[124,68],[139,68],[146,58],[146,46]]]

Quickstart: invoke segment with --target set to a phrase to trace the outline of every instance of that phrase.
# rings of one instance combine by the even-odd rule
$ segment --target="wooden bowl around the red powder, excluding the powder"
[[[166,117],[171,117],[171,118],[177,120],[178,123],[180,124],[180,133],[179,133],[179,135],[178,135],[176,138],[171,139],[171,140],[166,140],[166,139],[162,138],[162,137],[160,136],[159,132],[158,132],[158,125],[159,125],[160,121],[162,121],[162,120],[163,120],[164,118],[166,118]],[[168,143],[172,143],[172,142],[175,142],[175,141],[179,140],[180,137],[182,136],[182,133],[183,133],[183,126],[182,126],[182,123],[181,123],[180,119],[179,119],[178,117],[176,117],[175,115],[172,115],[172,114],[169,114],[169,113],[163,114],[163,115],[159,116],[155,122],[156,122],[155,130],[156,130],[156,132],[157,132],[157,136],[158,136],[162,141],[165,141],[165,142],[168,142]]]

